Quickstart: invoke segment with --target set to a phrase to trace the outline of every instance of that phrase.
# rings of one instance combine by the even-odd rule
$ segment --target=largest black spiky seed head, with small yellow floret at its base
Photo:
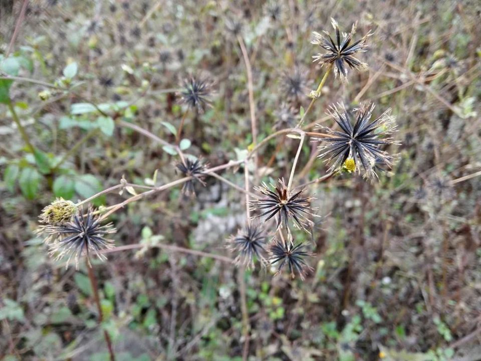
[[[350,168],[355,166],[356,171],[363,169],[366,177],[377,176],[375,170],[380,164],[389,168],[392,166],[393,156],[381,149],[388,144],[399,144],[388,135],[396,130],[394,116],[391,109],[386,110],[380,116],[371,120],[374,104],[361,104],[359,108],[348,111],[343,103],[332,105],[327,114],[339,125],[339,130],[333,130],[325,126],[318,129],[332,134],[331,138],[317,138],[324,143],[319,147],[320,158],[329,156],[328,162],[333,161],[329,171],[339,171],[350,160]],[[355,117],[354,124],[352,119]]]

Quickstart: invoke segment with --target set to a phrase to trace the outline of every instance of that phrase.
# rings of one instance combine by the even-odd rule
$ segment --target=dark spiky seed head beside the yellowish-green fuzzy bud
[[[37,232],[46,236],[44,242],[49,245],[51,255],[56,254],[57,260],[67,257],[67,266],[73,257],[78,268],[82,256],[88,257],[89,262],[91,255],[107,259],[102,252],[114,246],[106,237],[116,229],[112,223],[102,225],[92,208],[85,215],[79,208],[69,222],[40,226]]]

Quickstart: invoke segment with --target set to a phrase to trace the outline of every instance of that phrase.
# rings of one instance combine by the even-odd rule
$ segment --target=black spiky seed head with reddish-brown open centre
[[[312,197],[304,196],[304,189],[293,192],[288,190],[284,179],[279,179],[279,185],[268,187],[263,183],[262,187],[255,187],[264,198],[258,198],[252,202],[252,207],[261,212],[256,217],[267,216],[266,222],[277,217],[277,228],[283,225],[288,228],[289,221],[293,220],[294,225],[307,231],[312,228],[313,221],[308,217],[316,217],[311,208]]]

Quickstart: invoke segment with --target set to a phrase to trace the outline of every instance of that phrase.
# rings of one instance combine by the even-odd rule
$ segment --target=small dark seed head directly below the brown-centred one
[[[282,272],[284,266],[289,268],[292,278],[297,273],[301,279],[304,279],[305,274],[312,270],[312,267],[305,260],[306,257],[312,256],[312,254],[306,250],[305,244],[298,243],[294,245],[291,233],[289,233],[287,242],[275,238],[269,248],[269,254],[269,261],[272,265],[277,266],[276,275]]]

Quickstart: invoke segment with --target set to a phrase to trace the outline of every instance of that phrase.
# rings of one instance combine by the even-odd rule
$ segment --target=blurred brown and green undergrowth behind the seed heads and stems
[[[315,253],[304,281],[246,272],[249,357],[481,358],[481,182],[469,176],[481,169],[479,2],[30,1],[10,47],[23,3],[0,2],[5,360],[108,359],[86,270],[65,269],[34,234],[42,208],[122,176],[142,185],[152,185],[156,169],[157,184],[178,178],[175,149],[129,125],[173,143],[185,110],[176,90],[190,74],[212,79],[215,92],[211,108],[188,113],[183,151],[212,166],[242,157],[252,136],[237,37],[252,63],[259,139],[295,125],[323,74],[311,62],[320,50],[311,32],[330,31],[331,17],[344,31],[358,22],[360,36],[374,33],[362,55],[369,71],[351,72],[348,84],[329,78],[309,121],[330,126],[328,105],[372,100],[376,114],[393,108],[402,145],[379,182],[337,174],[310,187],[326,217],[313,237],[297,235]],[[296,182],[325,174],[316,146],[305,143]],[[263,179],[287,178],[296,149],[295,139],[270,141],[259,155]],[[242,169],[224,176],[243,184]],[[102,327],[119,360],[242,359],[238,269],[151,248],[235,256],[225,239],[245,222],[243,197],[216,178],[206,183],[194,199],[173,188],[112,217],[117,246],[145,246],[95,263]]]

